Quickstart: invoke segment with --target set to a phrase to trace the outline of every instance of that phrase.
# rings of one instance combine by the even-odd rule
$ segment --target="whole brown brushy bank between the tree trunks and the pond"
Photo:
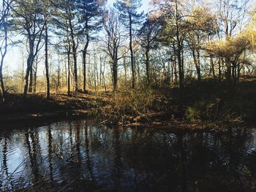
[[[256,81],[240,82],[236,88],[216,82],[188,83],[178,88],[138,88],[116,93],[8,93],[0,104],[1,123],[26,123],[97,119],[109,126],[167,129],[216,129],[250,123],[255,125]]]

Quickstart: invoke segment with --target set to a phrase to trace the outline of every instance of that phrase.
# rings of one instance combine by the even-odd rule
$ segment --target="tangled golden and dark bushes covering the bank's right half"
[[[106,107],[99,107],[101,120],[111,124],[148,120],[154,112],[190,123],[226,122],[242,123],[255,112],[252,96],[255,83],[230,88],[225,82],[207,80],[191,82],[183,90],[168,86],[140,86],[136,89],[116,91]],[[167,115],[166,115],[167,114]]]

